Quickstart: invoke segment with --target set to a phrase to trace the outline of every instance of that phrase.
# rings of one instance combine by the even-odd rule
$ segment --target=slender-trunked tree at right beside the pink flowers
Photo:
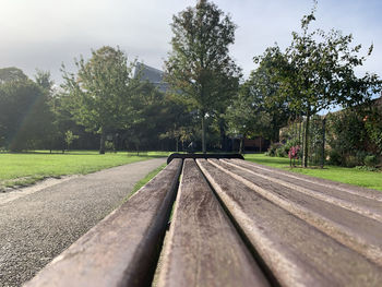
[[[290,108],[306,117],[303,167],[308,166],[310,119],[317,112],[336,105],[353,106],[365,103],[381,89],[375,74],[358,77],[355,68],[362,65],[361,45],[351,47],[353,36],[339,31],[309,32],[315,20],[317,1],[309,15],[301,20],[302,33],[293,33],[286,49],[288,64],[279,67],[279,84]],[[370,55],[372,46],[369,48]]]

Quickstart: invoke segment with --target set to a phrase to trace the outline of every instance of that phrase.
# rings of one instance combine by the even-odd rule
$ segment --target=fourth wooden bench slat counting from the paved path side
[[[382,224],[380,222],[268,181],[253,170],[228,165],[226,160],[213,163],[248,180],[249,186],[255,186],[254,189],[267,200],[382,266]]]

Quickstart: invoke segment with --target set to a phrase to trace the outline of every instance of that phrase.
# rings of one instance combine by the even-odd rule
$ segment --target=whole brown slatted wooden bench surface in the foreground
[[[175,158],[25,286],[150,286],[155,270],[162,287],[381,286],[382,192]]]

